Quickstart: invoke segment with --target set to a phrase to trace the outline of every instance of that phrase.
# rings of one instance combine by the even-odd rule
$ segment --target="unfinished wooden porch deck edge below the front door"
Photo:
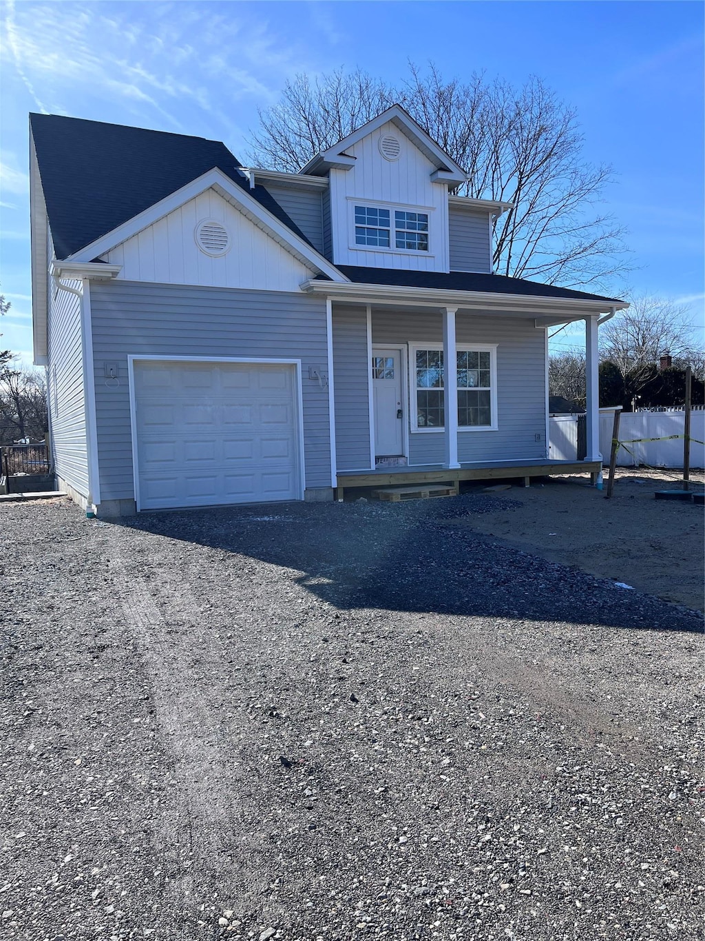
[[[602,470],[600,461],[475,461],[448,470],[438,464],[423,464],[379,470],[338,470],[336,500],[342,500],[351,486],[404,486],[410,484],[452,484],[458,493],[462,480],[501,480],[522,477],[529,486],[532,477],[551,474],[589,473],[594,484]]]

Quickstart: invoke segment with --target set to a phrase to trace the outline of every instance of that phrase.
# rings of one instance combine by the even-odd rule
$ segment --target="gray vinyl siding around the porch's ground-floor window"
[[[546,456],[546,374],[544,332],[532,320],[519,317],[478,317],[458,311],[459,346],[497,344],[497,431],[459,431],[461,461],[534,459]],[[440,313],[374,311],[373,343],[443,345]],[[414,364],[409,373],[414,376]],[[409,390],[406,391],[409,394]],[[411,410],[407,408],[407,414]],[[539,440],[536,440],[536,436]],[[441,464],[444,439],[440,432],[409,435],[409,463]]]

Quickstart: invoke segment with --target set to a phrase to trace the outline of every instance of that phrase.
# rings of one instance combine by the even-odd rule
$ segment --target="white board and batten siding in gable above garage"
[[[217,258],[196,245],[196,225],[222,223],[230,248]],[[209,189],[133,235],[102,260],[122,265],[118,279],[258,291],[298,291],[313,270],[226,199]]]

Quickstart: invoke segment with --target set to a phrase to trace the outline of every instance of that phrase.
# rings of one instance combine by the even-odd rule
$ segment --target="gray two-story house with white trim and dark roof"
[[[60,486],[103,516],[601,469],[626,305],[493,274],[506,203],[395,105],[298,173],[31,115],[35,361]],[[547,327],[584,320],[587,459],[548,459]],[[444,370],[453,362],[452,371]]]

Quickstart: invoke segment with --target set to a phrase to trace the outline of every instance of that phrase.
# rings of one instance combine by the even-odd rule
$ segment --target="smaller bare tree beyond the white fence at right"
[[[627,392],[636,395],[653,377],[659,359],[669,354],[676,365],[701,359],[689,309],[665,297],[642,295],[630,299],[600,330],[600,356],[613,362]]]

